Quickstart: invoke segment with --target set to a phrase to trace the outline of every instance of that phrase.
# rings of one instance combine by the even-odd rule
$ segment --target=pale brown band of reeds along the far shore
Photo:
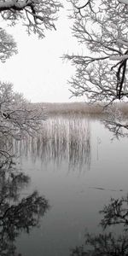
[[[44,108],[45,112],[48,115],[56,115],[56,114],[95,114],[101,115],[104,113],[104,108],[106,104],[90,104],[85,102],[64,102],[64,103],[49,103],[49,102],[38,102],[32,103],[32,105],[38,105],[41,108]],[[115,106],[115,105],[114,105]],[[116,103],[116,106],[119,110],[124,113],[128,114],[128,104],[126,102],[119,102]],[[111,107],[113,108],[113,107]]]

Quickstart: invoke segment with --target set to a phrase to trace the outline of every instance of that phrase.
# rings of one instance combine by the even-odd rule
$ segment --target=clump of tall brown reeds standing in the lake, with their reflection
[[[43,123],[42,134],[37,138],[17,143],[20,154],[32,154],[32,160],[39,157],[45,164],[61,165],[63,160],[69,169],[90,168],[90,123],[82,117],[56,117]]]

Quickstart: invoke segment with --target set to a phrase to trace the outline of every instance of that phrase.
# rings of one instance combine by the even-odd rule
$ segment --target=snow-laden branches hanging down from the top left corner
[[[11,25],[22,20],[28,33],[38,33],[39,38],[44,38],[45,29],[55,29],[57,12],[62,7],[55,0],[1,0],[0,13],[3,20]]]

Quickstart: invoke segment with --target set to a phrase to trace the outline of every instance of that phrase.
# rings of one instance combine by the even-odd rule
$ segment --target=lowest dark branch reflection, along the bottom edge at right
[[[86,247],[86,248],[85,248]],[[126,256],[128,255],[128,236],[117,239],[109,234],[85,236],[85,246],[73,249],[71,256]]]

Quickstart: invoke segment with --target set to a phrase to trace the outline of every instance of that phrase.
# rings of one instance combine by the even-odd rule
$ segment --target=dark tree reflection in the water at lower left
[[[21,197],[20,190],[29,182],[14,165],[0,170],[0,255],[16,256],[15,239],[21,231],[27,233],[39,224],[39,219],[49,209],[48,201],[34,191]]]

